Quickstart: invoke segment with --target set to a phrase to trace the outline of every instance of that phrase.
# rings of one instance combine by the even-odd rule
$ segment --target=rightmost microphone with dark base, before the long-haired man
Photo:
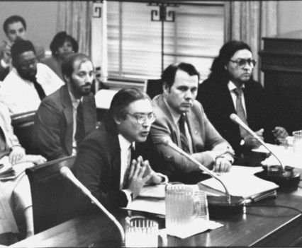
[[[298,187],[298,183],[300,181],[300,174],[297,172],[293,172],[293,167],[291,166],[283,166],[279,158],[272,152],[271,149],[267,147],[267,144],[262,141],[262,139],[255,133],[255,131],[252,131],[247,124],[242,122],[242,120],[237,116],[237,114],[230,114],[230,119],[235,122],[236,124],[240,125],[243,129],[245,129],[249,134],[251,134],[254,138],[259,141],[259,143],[266,148],[270,154],[274,155],[276,160],[280,163],[280,165],[273,165],[271,166],[273,170],[276,170],[276,172],[270,171],[268,168],[267,170],[264,170],[264,172],[258,172],[255,175],[257,177],[260,177],[262,179],[267,179],[269,181],[275,182],[281,187]],[[281,170],[279,168],[281,167]],[[284,173],[285,171],[285,173]]]

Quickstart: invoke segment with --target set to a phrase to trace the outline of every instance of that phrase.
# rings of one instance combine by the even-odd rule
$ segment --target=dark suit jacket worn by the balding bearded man
[[[84,129],[89,134],[96,128],[94,95],[83,98]],[[47,160],[72,155],[73,107],[66,85],[40,103],[35,116],[33,150]]]

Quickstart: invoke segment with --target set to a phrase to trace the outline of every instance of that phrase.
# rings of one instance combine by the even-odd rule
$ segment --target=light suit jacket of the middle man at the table
[[[155,170],[167,175],[171,181],[184,181],[183,175],[200,171],[200,169],[190,160],[161,143],[162,138],[168,137],[177,146],[181,147],[177,125],[174,124],[163,96],[155,96],[152,100],[152,105],[156,121],[151,127],[151,138],[155,144],[156,154],[160,158],[158,162],[162,161],[162,165],[156,167]],[[199,102],[194,102],[191,110],[186,113],[186,117],[192,138],[193,153],[200,163],[206,167],[213,165],[213,156],[207,150],[228,150],[232,153],[230,144],[218,134],[218,131],[208,121]],[[222,154],[224,153],[222,152]],[[158,166],[156,163],[155,165]]]

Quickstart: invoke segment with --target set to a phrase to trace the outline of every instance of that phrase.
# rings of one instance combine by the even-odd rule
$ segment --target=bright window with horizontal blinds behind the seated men
[[[167,13],[174,11],[175,18],[163,23],[151,20],[151,11],[158,13],[159,8],[107,2],[108,75],[158,78],[162,68],[184,61],[194,64],[205,79],[223,45],[223,2],[167,6]]]

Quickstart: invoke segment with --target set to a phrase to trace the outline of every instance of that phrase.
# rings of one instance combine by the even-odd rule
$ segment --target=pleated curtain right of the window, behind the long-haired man
[[[262,37],[277,33],[277,1],[225,2],[225,42],[242,40],[250,45],[255,59],[262,50]],[[259,63],[254,78],[260,78]]]

